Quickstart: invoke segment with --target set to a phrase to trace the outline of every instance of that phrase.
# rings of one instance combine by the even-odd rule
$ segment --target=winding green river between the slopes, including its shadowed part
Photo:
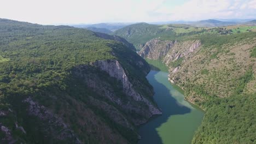
[[[162,115],[139,128],[138,144],[188,144],[201,124],[204,112],[184,100],[184,95],[168,81],[167,68],[160,61],[147,60],[153,66],[147,76],[154,87],[154,100]]]

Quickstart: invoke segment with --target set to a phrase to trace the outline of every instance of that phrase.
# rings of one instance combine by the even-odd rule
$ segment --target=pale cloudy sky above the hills
[[[43,25],[256,18],[256,0],[2,0],[0,5],[0,18]]]

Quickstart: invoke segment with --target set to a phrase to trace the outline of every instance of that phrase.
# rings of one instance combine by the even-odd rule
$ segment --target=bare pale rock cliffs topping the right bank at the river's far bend
[[[195,55],[196,50],[201,46],[200,40],[188,40],[188,41],[160,41],[158,39],[152,39],[147,42],[143,49],[139,52],[139,55],[149,59],[161,59],[170,69],[169,81],[175,83],[173,74],[178,73],[181,66],[172,67],[171,63],[178,61],[186,61],[189,57]],[[181,59],[182,58],[182,59]]]

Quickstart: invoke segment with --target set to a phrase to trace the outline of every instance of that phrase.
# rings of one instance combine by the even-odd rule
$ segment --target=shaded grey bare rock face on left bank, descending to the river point
[[[148,121],[148,118],[153,115],[160,115],[161,111],[152,101],[146,98],[146,95],[143,95],[143,92],[138,92],[132,83],[129,80],[129,77],[126,74],[126,71],[121,66],[117,60],[108,60],[108,61],[97,61],[92,64],[92,67],[100,69],[104,73],[107,73],[111,79],[119,81],[120,84],[116,84],[117,87],[109,85],[109,82],[105,81],[107,75],[102,79],[101,77],[96,76],[94,73],[88,72],[88,65],[80,65],[74,71],[74,74],[83,79],[84,83],[90,87],[93,91],[101,95],[103,98],[107,98],[112,101],[114,104],[118,105],[121,110],[125,112],[126,118],[130,119],[135,125],[139,125]],[[143,85],[142,83],[136,83],[137,85]],[[118,92],[119,90],[121,91]],[[149,88],[148,88],[149,89]],[[145,89],[147,91],[147,88]],[[117,95],[117,93],[121,95]],[[153,93],[150,95],[153,96]],[[95,102],[95,101],[94,101]],[[104,103],[106,104],[106,103]],[[106,104],[107,106],[107,104]],[[107,109],[113,109],[111,106],[107,106]],[[120,112],[120,111],[117,111]],[[120,114],[120,115],[119,115]],[[121,115],[121,112],[117,116],[119,123],[124,127],[130,127],[126,123],[126,118]],[[115,119],[115,121],[117,121]]]

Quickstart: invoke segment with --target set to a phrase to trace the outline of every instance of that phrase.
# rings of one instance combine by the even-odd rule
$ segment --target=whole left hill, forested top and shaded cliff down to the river
[[[112,36],[6,19],[0,32],[1,142],[136,143],[161,114],[149,65]]]

